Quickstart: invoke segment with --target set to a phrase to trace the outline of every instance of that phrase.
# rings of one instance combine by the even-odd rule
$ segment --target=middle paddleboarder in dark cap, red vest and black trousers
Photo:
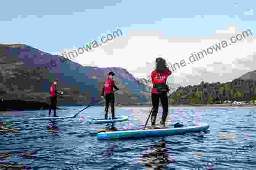
[[[107,113],[109,112],[109,102],[111,105],[111,113],[112,113],[112,119],[115,118],[115,91],[119,90],[119,88],[116,87],[115,82],[113,80],[113,76],[115,76],[115,73],[110,71],[108,74],[108,79],[103,84],[103,89],[101,93],[101,99],[106,99],[106,105],[105,105],[105,119],[107,119]],[[113,87],[115,88],[115,91],[113,91]]]

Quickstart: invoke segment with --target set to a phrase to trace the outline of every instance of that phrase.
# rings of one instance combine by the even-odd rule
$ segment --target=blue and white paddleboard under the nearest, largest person
[[[185,134],[188,132],[200,132],[205,131],[210,127],[209,124],[192,124],[189,126],[183,126],[181,128],[174,128],[173,126],[168,126],[166,128],[157,128],[151,129],[151,126],[148,126],[144,129],[142,128],[106,128],[98,129],[98,139],[133,139],[138,137],[157,137],[157,136],[166,136],[166,135],[179,135]]]

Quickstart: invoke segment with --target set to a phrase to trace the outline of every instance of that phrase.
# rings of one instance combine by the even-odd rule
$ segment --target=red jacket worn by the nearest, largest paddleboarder
[[[152,83],[159,84],[159,83],[166,83],[168,76],[171,75],[171,71],[166,69],[164,73],[158,73],[157,70],[154,70],[151,73]],[[157,88],[152,88],[152,93],[158,94]]]

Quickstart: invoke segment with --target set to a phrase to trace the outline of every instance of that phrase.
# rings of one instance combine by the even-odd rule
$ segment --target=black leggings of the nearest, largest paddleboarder
[[[151,99],[152,99],[152,104],[153,104],[151,124],[155,125],[155,121],[156,121],[157,113],[158,113],[158,107],[159,107],[159,100],[161,100],[161,104],[163,107],[162,121],[160,123],[165,124],[166,117],[168,115],[168,104],[169,104],[167,93],[162,93],[162,94],[151,93]]]

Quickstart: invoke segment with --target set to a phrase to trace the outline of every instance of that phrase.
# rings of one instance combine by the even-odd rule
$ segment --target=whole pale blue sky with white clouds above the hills
[[[76,50],[120,29],[123,36],[72,59],[85,66],[122,67],[146,78],[155,58],[189,60],[222,40],[252,35],[169,76],[168,83],[228,82],[255,70],[256,2],[250,1],[3,1],[1,41],[25,43],[53,55]]]

